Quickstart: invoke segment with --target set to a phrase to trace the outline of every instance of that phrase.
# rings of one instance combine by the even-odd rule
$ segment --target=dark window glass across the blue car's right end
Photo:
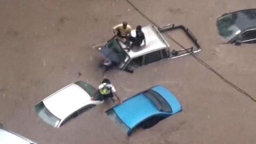
[[[148,90],[144,94],[155,104],[158,110],[172,113],[169,103],[160,94],[153,90]]]

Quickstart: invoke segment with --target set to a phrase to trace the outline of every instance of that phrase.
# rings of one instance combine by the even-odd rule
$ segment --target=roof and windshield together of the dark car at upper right
[[[217,20],[219,34],[230,41],[243,30],[256,27],[256,10],[243,10],[224,15]]]

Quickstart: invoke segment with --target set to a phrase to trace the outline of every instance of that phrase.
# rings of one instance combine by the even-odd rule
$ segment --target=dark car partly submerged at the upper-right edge
[[[222,14],[217,27],[227,43],[256,43],[256,9]]]

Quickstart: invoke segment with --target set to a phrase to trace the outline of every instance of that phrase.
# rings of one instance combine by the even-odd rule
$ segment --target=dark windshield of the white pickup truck
[[[105,49],[106,48],[107,50],[102,50],[102,54],[109,60],[117,63],[119,68],[122,68],[129,60],[128,55],[125,53],[116,39],[108,42],[105,46]]]

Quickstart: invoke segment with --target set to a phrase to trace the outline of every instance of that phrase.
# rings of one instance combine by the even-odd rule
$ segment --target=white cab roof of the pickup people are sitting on
[[[163,36],[159,33],[157,28],[155,26],[146,26],[142,27],[142,31],[146,38],[146,46],[141,46],[139,50],[132,49],[131,51],[126,53],[131,57],[135,58],[140,55],[144,55],[153,51],[165,49],[166,47],[169,47],[169,44],[165,41]],[[131,32],[132,36],[136,36],[135,29]],[[126,45],[124,45],[122,42],[119,42],[119,44],[125,48]]]

